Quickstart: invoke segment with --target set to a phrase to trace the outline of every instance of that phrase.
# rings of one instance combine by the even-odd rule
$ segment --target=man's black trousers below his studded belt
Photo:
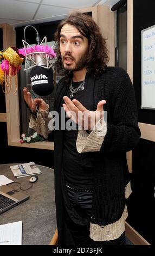
[[[70,203],[73,205],[78,214],[81,217],[88,219],[88,224],[86,225],[75,224],[66,211],[66,224],[73,236],[76,246],[102,247],[105,245],[125,245],[125,233],[122,233],[118,239],[110,241],[94,241],[89,236],[89,220],[92,209],[93,192],[79,192],[67,188],[67,194]]]

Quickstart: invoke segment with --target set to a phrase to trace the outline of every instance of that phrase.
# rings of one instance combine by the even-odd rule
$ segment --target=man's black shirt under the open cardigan
[[[82,82],[82,81],[81,81]],[[73,88],[77,88],[81,82],[72,82]],[[83,106],[89,110],[93,110],[93,86],[85,84],[84,90],[79,90],[74,94],[73,99],[79,100]],[[70,98],[70,89],[67,96]],[[64,132],[63,143],[63,170],[64,179],[67,185],[74,188],[92,188],[93,187],[93,159],[91,153],[78,153],[76,149],[76,139],[78,137],[78,125],[73,121],[71,123],[72,130],[68,130],[71,119],[66,118],[66,130]]]

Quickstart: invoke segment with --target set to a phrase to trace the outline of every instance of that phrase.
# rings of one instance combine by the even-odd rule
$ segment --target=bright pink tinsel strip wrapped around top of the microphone
[[[35,48],[35,50],[34,50]],[[51,56],[53,56],[53,58],[56,57],[56,53],[54,52],[53,48],[48,46],[48,45],[35,45],[34,47],[28,47],[28,48],[20,48],[18,49],[18,52],[20,54],[22,54],[23,56],[25,56],[25,49],[27,54],[28,53],[33,53],[33,52],[45,52]]]

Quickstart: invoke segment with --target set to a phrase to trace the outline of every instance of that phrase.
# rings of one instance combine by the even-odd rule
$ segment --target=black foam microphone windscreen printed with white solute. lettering
[[[42,66],[35,66],[30,71],[31,86],[34,92],[40,96],[47,96],[53,92],[53,70]]]

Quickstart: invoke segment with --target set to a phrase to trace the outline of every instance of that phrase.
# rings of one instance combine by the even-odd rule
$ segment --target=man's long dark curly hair
[[[66,24],[76,27],[79,32],[88,39],[89,48],[86,69],[89,73],[98,77],[105,70],[107,66],[106,63],[109,61],[106,40],[102,37],[100,28],[96,25],[92,17],[80,12],[70,14],[69,17],[61,21],[57,26],[55,32],[55,48],[57,52],[57,61],[55,64],[57,70],[63,70],[59,47],[61,28]],[[69,78],[69,74],[69,71],[64,71],[66,78]]]

